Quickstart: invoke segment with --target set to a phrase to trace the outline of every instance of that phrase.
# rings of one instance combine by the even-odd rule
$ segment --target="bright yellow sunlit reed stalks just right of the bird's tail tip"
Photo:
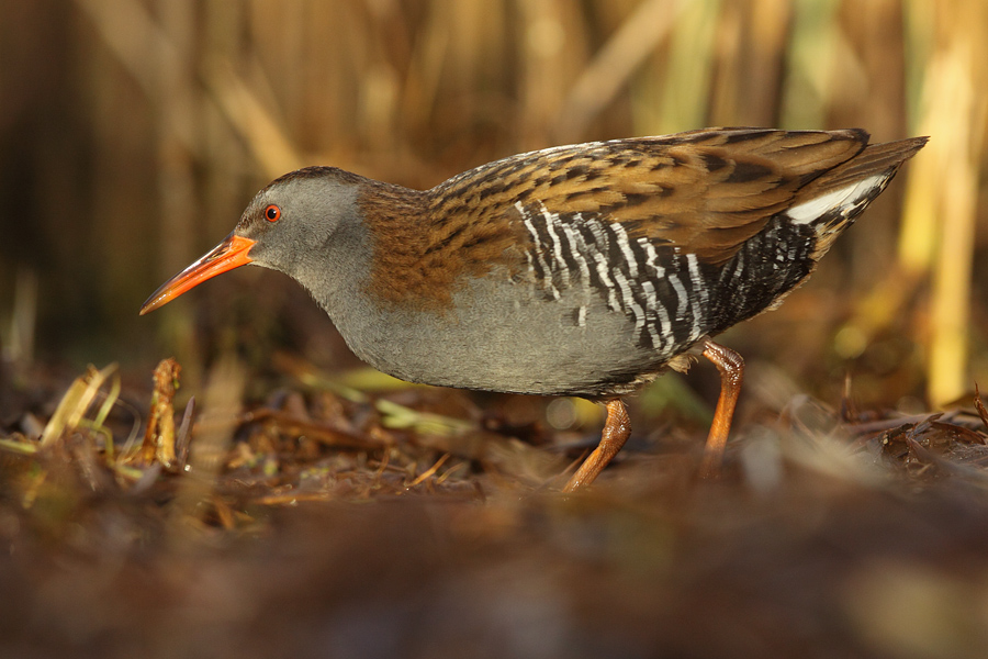
[[[976,18],[980,18],[977,20]],[[980,2],[936,5],[919,125],[933,135],[917,159],[899,256],[907,272],[931,270],[927,395],[936,405],[969,389],[972,272],[978,181],[988,126]]]

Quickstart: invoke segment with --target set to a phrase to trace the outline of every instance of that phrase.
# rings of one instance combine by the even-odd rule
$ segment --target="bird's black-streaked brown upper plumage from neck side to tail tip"
[[[442,308],[462,275],[524,267],[517,204],[620,222],[629,237],[725,263],[775,213],[896,167],[923,142],[867,141],[861,130],[712,129],[521,154],[426,192],[364,180],[359,203],[378,237],[371,288]]]

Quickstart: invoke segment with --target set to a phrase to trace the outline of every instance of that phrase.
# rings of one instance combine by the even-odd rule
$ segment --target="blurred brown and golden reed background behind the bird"
[[[176,355],[193,386],[229,350],[355,366],[307,294],[257,268],[137,316],[301,166],[428,188],[563,143],[862,126],[932,139],[808,286],[723,340],[770,396],[834,401],[850,373],[863,403],[910,411],[988,379],[983,0],[0,0],[0,15],[8,364],[146,379]]]

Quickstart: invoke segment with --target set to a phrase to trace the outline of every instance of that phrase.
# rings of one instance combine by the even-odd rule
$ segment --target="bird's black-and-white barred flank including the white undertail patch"
[[[672,357],[759,314],[798,286],[892,174],[776,214],[723,264],[704,263],[661,239],[631,238],[620,222],[594,213],[560,214],[521,202],[515,208],[531,239],[529,268],[547,297],[559,300],[579,288],[584,301],[574,322],[585,326],[597,295],[609,311],[633,322],[637,346]]]

